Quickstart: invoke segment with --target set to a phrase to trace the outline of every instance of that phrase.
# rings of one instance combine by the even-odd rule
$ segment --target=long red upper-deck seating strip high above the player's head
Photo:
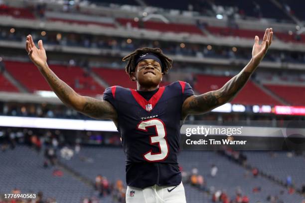
[[[143,27],[141,27],[141,22],[136,22],[133,19],[127,18],[117,18],[119,23],[126,26],[127,23],[130,23],[132,27],[145,28],[148,30],[156,30],[160,32],[187,32],[191,34],[200,34],[204,33],[193,24],[181,24],[181,23],[164,23],[164,22],[156,22],[156,21],[144,21]]]

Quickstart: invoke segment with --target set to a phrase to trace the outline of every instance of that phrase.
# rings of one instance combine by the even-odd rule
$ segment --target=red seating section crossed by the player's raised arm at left
[[[32,63],[23,62],[4,62],[6,70],[18,80],[29,92],[37,90],[51,91],[51,88],[41,76],[38,69]],[[105,90],[97,84],[90,76],[85,77],[85,72],[80,67],[66,67],[63,65],[51,65],[50,68],[54,73],[71,86],[76,92],[83,95],[97,95],[102,94]],[[76,87],[76,79],[79,80],[80,86]]]

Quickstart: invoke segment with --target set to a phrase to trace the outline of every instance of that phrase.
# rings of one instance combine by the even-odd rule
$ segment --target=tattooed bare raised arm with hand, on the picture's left
[[[87,116],[97,119],[112,119],[116,123],[117,112],[109,102],[77,94],[49,68],[42,40],[38,41],[38,47],[39,49],[35,46],[32,36],[28,35],[26,37],[25,50],[27,51],[29,58],[37,66],[54,93],[65,105],[72,107]]]

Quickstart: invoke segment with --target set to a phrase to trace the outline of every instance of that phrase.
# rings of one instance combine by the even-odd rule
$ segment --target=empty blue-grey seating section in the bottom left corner
[[[79,203],[84,197],[91,197],[94,190],[63,173],[55,177],[55,168],[43,168],[43,156],[26,146],[17,146],[14,150],[0,152],[0,191],[11,194],[16,188],[21,194],[43,192],[44,199],[55,198],[58,203]],[[5,175],[4,175],[5,174]]]

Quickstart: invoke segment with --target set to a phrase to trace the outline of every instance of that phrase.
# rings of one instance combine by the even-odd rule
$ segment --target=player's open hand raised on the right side
[[[255,43],[252,49],[252,58],[255,62],[260,63],[268,51],[272,42],[273,31],[272,28],[267,28],[264,34],[262,44],[259,44],[259,37],[255,36]]]

